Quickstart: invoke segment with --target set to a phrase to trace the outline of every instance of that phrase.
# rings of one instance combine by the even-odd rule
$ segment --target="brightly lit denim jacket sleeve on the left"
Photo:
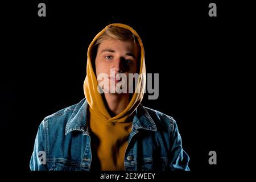
[[[34,151],[30,159],[30,169],[31,171],[45,171],[47,169],[46,165],[46,133],[45,133],[45,123],[39,126],[38,133],[36,134]]]

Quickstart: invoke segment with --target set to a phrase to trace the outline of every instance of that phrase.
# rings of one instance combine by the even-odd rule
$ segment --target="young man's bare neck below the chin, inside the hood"
[[[129,94],[105,93],[106,105],[111,117],[120,114],[129,104]]]

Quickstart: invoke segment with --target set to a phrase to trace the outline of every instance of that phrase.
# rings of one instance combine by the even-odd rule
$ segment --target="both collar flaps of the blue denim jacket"
[[[79,102],[79,104],[76,105],[71,117],[68,119],[65,128],[65,135],[67,135],[71,131],[81,131],[82,135],[89,135],[88,119],[90,119],[89,105],[84,98]],[[136,130],[157,130],[155,122],[142,105],[139,105],[138,108],[135,110],[135,115],[133,118],[133,127]]]

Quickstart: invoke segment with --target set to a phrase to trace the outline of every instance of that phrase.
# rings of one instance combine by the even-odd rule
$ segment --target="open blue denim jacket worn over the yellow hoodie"
[[[88,114],[84,98],[44,118],[36,135],[30,169],[89,171],[93,159]],[[139,105],[123,159],[125,170],[189,170],[188,162],[176,121]]]

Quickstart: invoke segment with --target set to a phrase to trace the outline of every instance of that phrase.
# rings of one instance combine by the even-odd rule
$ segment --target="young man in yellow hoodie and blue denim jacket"
[[[137,32],[105,27],[88,48],[85,98],[44,118],[31,170],[189,170],[175,120],[141,105],[145,73]]]

